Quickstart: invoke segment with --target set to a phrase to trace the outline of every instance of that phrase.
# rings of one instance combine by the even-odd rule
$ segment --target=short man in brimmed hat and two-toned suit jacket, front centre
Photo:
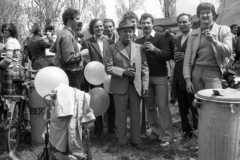
[[[134,28],[129,20],[120,22],[117,28],[120,41],[110,45],[105,57],[105,69],[112,75],[109,90],[114,96],[118,142],[121,146],[128,144],[127,107],[129,106],[131,145],[143,149],[140,145],[140,102],[142,95],[148,95],[149,70],[143,47],[131,42]]]

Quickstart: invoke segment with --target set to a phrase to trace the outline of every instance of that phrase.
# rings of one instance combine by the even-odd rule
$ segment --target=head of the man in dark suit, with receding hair
[[[192,16],[190,14],[182,13],[177,17],[179,30],[183,34],[190,32],[192,28]]]

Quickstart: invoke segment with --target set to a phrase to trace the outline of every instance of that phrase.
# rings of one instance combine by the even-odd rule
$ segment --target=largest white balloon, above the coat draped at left
[[[41,69],[34,80],[35,88],[41,97],[51,93],[60,83],[69,85],[68,76],[62,69],[52,66]]]

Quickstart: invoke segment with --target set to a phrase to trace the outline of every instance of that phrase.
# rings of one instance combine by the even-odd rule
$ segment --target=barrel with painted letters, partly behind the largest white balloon
[[[45,130],[44,113],[45,103],[44,99],[37,93],[34,84],[30,85],[28,90],[29,97],[29,111],[31,124],[31,141],[33,144],[43,144],[44,139],[42,134]]]

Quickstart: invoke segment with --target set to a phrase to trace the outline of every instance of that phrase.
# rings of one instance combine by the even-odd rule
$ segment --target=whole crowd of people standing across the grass
[[[112,76],[110,106],[103,116],[96,117],[94,135],[102,135],[107,121],[108,132],[117,135],[119,145],[128,144],[129,108],[130,143],[142,149],[142,111],[146,109],[146,121],[151,129],[148,138],[160,140],[160,145],[165,147],[174,139],[169,109],[168,61],[175,62],[171,90],[176,93],[183,140],[186,141],[195,137],[194,131],[198,129],[194,94],[202,89],[222,88],[221,79],[229,59],[235,57],[236,63],[239,60],[238,26],[216,24],[216,11],[211,3],[199,4],[197,16],[200,27],[195,30],[192,29],[191,15],[182,13],[177,17],[182,34],[176,38],[170,29],[164,31],[154,26],[151,14],[144,13],[139,20],[134,12],[129,11],[118,27],[109,18],[91,20],[89,32],[92,37],[85,40],[80,32],[79,11],[68,8],[62,14],[64,28],[56,37],[53,36],[53,26],[45,29],[47,34],[43,38],[41,27],[34,24],[33,36],[27,40],[27,53],[33,69],[60,67],[67,74],[71,87],[86,92],[99,86],[86,81],[84,67],[91,61],[104,64],[106,73]],[[21,63],[20,44],[14,24],[2,26],[2,32],[7,38],[6,57],[0,61],[4,94],[13,94],[10,81],[18,76],[18,72],[11,66],[12,63]],[[142,100],[145,100],[145,106]],[[189,115],[193,122],[190,122]]]

